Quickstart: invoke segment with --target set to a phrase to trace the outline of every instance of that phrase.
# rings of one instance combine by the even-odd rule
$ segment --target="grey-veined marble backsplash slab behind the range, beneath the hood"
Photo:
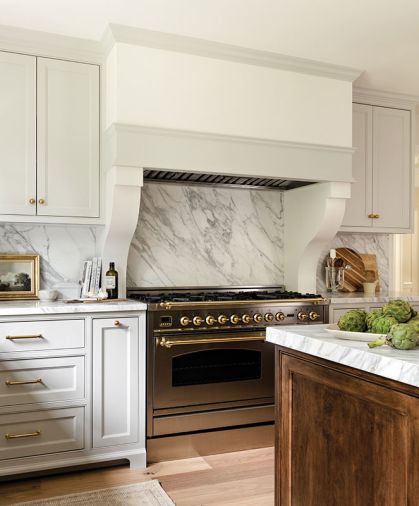
[[[127,286],[284,282],[279,191],[146,184]]]

